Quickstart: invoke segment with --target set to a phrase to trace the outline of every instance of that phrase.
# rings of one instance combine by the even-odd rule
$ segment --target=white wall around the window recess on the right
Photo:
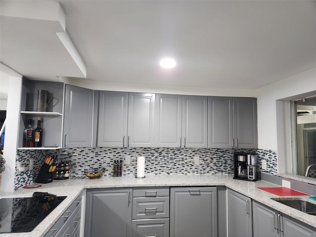
[[[282,79],[261,87],[258,94],[258,148],[277,151],[278,172],[286,170],[290,160],[290,122],[288,110],[278,104],[277,100],[293,100],[303,96],[316,95],[316,68]],[[286,105],[284,103],[284,105]],[[286,105],[289,106],[288,103]],[[284,114],[284,119],[280,119]],[[284,134],[277,131],[286,132]],[[291,169],[288,166],[287,169]]]

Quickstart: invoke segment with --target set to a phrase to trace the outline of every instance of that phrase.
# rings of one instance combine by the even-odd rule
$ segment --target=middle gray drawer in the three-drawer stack
[[[169,197],[134,197],[133,220],[169,218]]]

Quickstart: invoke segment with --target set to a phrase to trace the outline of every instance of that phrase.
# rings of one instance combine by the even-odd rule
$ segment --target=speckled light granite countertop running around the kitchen
[[[57,196],[67,196],[32,232],[1,234],[2,237],[42,237],[59,219],[63,212],[78,197],[84,189],[96,188],[124,188],[124,187],[158,187],[158,186],[226,186],[262,204],[270,206],[286,215],[300,220],[316,228],[316,216],[312,216],[294,208],[287,207],[271,197],[280,197],[258,187],[279,187],[275,184],[258,180],[250,182],[233,179],[232,175],[190,174],[190,175],[147,175],[144,179],[136,179],[134,176],[112,177],[104,176],[100,179],[68,179],[54,180],[49,184],[42,184],[36,189],[19,189],[12,193],[0,193],[0,197],[32,197],[34,192],[48,192]],[[289,197],[289,196],[287,196]],[[308,196],[291,196],[312,201]]]

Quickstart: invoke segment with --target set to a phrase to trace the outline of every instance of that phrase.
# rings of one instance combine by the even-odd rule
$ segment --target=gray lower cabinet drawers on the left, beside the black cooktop
[[[81,194],[67,208],[44,237],[79,237],[81,219]]]

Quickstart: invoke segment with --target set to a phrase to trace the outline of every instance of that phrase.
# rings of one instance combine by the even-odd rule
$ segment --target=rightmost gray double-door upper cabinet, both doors
[[[208,98],[210,148],[257,148],[257,99]]]

